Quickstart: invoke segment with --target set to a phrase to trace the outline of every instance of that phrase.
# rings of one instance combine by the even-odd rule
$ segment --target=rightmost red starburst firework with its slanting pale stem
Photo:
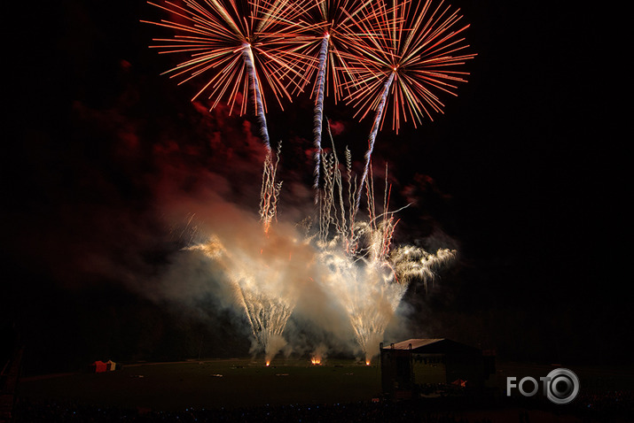
[[[475,54],[463,52],[469,46],[461,34],[469,25],[458,25],[458,12],[442,1],[437,6],[431,0],[405,1],[391,8],[379,1],[364,9],[366,19],[356,20],[353,53],[341,52],[353,76],[346,83],[346,100],[359,119],[374,112],[357,204],[387,104],[392,104],[392,127],[398,133],[401,119],[409,117],[415,127],[425,116],[433,119],[431,112],[442,112],[444,106],[438,95],[455,96],[457,84],[466,82],[469,73],[459,68]]]

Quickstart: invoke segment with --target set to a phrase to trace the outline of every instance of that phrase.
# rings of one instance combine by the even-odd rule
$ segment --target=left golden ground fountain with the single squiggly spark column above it
[[[279,152],[279,150],[278,150]],[[262,230],[222,242],[212,235],[189,247],[221,265],[254,335],[254,353],[263,351],[266,364],[286,345],[282,335],[294,311],[301,281],[308,278],[312,251],[298,238],[271,230],[276,219],[281,182],[278,161],[267,154],[262,173],[260,217]],[[227,246],[227,244],[230,246]]]

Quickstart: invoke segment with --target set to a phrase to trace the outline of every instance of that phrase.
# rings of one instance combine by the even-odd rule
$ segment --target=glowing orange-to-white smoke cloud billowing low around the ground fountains
[[[345,240],[320,244],[305,222],[289,221],[313,214],[312,205],[286,209],[265,232],[254,207],[229,200],[233,181],[202,172],[195,187],[190,183],[184,190],[187,169],[171,172],[183,174],[166,178],[157,197],[179,250],[146,292],[192,309],[200,308],[200,298],[214,298],[214,307],[231,310],[236,325],[246,328],[250,352],[263,353],[267,362],[280,351],[320,358],[354,354],[369,362],[388,327],[392,334],[403,332],[407,312],[400,303],[410,281],[431,280],[434,260],[453,257],[452,252],[443,257],[440,248],[437,257],[413,246],[394,249],[393,268],[383,258],[387,250],[376,250],[393,228],[372,228],[362,219],[351,227],[365,251],[355,258],[342,248]],[[253,170],[240,177],[261,178]]]

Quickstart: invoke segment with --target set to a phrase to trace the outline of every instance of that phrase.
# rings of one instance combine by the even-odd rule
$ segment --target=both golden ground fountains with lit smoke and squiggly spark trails
[[[207,215],[196,210],[196,217],[185,219],[179,233],[185,242],[195,242],[185,250],[204,254],[210,277],[222,271],[224,289],[208,292],[231,296],[250,329],[252,353],[263,355],[265,362],[280,350],[304,350],[323,363],[328,347],[355,352],[370,363],[411,282],[427,287],[455,251],[393,245],[399,211],[387,209],[387,178],[382,204],[375,201],[372,168],[364,186],[366,207],[356,213],[359,188],[350,153],[345,151],[341,166],[334,146],[323,156],[317,225],[278,221],[279,150],[275,154],[267,155],[263,166],[259,221],[232,206],[210,204]],[[213,221],[201,224],[198,219]]]

